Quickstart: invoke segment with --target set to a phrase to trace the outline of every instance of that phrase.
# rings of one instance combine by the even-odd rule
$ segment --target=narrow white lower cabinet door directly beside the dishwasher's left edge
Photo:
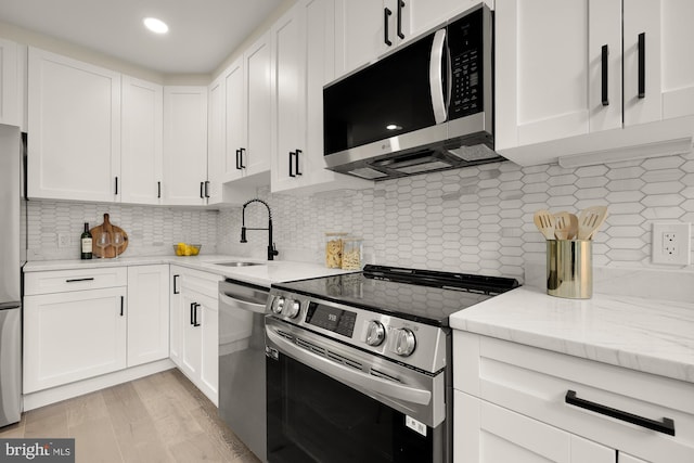
[[[219,401],[219,312],[217,300],[206,298],[201,303],[198,316],[203,334],[201,359],[201,389],[217,406]]]

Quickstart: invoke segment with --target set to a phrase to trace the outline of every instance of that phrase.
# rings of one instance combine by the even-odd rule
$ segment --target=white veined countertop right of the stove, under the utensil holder
[[[694,383],[694,300],[522,286],[450,318],[453,329]]]

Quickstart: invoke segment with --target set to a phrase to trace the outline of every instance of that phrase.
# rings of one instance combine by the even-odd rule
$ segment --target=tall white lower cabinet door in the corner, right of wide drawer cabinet
[[[128,366],[167,357],[168,265],[128,267]]]

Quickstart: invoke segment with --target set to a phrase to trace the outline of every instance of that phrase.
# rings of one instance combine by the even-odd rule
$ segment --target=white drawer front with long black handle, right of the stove
[[[646,461],[694,461],[691,383],[454,332],[453,387]],[[567,401],[568,391],[578,404],[569,403],[570,394]],[[583,408],[583,400],[597,407]],[[607,408],[624,413],[611,416]],[[676,435],[629,422],[627,414],[670,419]]]

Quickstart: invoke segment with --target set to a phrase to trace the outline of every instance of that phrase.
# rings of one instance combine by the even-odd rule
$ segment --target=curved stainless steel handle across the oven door
[[[376,393],[394,400],[401,400],[421,406],[426,406],[432,401],[432,393],[429,390],[417,389],[393,383],[387,380],[381,380],[380,377],[343,366],[332,360],[317,356],[316,353],[311,353],[298,347],[296,344],[279,336],[273,333],[272,330],[267,327],[266,334],[268,338],[270,338],[270,340],[272,340],[272,343],[274,343],[274,345],[278,346],[285,355],[293,357],[305,365],[325,373],[335,380],[354,386],[359,386],[368,391]]]

